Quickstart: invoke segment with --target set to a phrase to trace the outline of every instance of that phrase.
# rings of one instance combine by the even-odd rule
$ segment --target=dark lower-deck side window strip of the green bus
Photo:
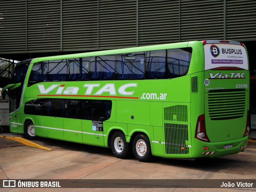
[[[110,118],[111,108],[110,100],[38,98],[25,103],[24,113],[104,121]]]

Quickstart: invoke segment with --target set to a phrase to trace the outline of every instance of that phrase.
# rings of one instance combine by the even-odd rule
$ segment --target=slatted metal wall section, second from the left
[[[27,0],[28,52],[60,50],[60,1]]]

